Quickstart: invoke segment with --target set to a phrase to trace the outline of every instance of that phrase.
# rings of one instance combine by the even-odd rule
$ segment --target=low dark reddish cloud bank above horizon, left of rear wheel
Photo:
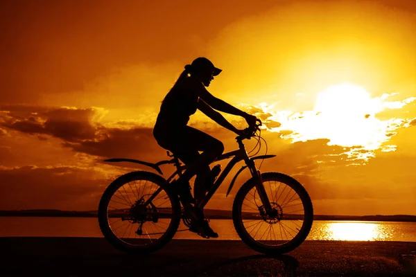
[[[76,167],[0,169],[0,209],[96,209],[110,182],[94,169]]]

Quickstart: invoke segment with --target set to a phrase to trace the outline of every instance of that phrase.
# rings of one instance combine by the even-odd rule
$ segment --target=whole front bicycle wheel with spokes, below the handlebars
[[[241,240],[255,251],[267,254],[292,251],[311,231],[311,198],[292,177],[277,172],[262,173],[261,177],[272,211],[266,211],[252,178],[234,199],[234,227]]]

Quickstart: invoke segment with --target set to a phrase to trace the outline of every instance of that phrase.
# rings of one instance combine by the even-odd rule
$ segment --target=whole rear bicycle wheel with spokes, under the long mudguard
[[[150,253],[173,238],[180,223],[180,203],[165,182],[152,172],[137,171],[107,187],[98,206],[98,222],[113,247],[126,253]],[[154,198],[148,201],[150,197]]]

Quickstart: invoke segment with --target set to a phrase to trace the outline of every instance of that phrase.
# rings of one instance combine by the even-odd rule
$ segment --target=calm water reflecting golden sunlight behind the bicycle
[[[211,220],[222,240],[240,240],[232,220]],[[0,237],[98,237],[103,235],[93,217],[0,217]],[[179,230],[185,229],[181,223]],[[202,239],[178,231],[175,239]],[[416,242],[416,222],[313,222],[306,240],[361,240]]]

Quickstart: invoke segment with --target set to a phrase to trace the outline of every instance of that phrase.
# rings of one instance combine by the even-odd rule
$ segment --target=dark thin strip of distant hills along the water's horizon
[[[232,211],[214,209],[205,209],[204,211],[205,216],[213,220],[232,219]],[[54,209],[0,211],[0,217],[97,217],[97,211],[61,211]],[[261,217],[245,213],[245,218],[259,219]],[[286,217],[286,219],[296,220],[297,217]],[[314,215],[313,220],[416,222],[416,215]]]

